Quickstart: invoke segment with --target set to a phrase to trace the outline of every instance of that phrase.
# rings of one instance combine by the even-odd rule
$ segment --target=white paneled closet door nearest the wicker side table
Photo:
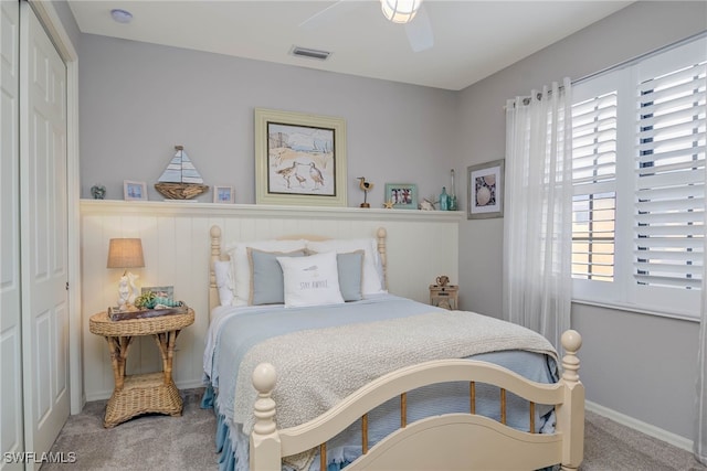
[[[70,408],[66,66],[27,2],[20,20],[24,446],[40,453]]]

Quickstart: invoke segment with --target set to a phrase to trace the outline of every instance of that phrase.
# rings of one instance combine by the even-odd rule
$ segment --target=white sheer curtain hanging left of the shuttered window
[[[571,83],[506,105],[504,318],[556,347],[572,299]]]

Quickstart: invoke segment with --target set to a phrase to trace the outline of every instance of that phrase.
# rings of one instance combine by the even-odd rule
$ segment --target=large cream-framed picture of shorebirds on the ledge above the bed
[[[255,203],[346,206],[346,121],[255,109]]]

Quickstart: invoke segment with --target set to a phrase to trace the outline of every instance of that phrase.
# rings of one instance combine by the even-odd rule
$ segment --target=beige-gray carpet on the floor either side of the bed
[[[76,453],[73,464],[44,464],[51,470],[217,470],[215,417],[199,407],[201,389],[182,392],[182,417],[138,417],[103,428],[105,400],[86,404],[71,416],[52,452]],[[587,413],[582,471],[701,471],[688,451]]]

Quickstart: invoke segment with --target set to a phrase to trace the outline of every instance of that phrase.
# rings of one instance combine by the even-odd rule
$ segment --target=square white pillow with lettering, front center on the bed
[[[336,253],[277,257],[283,268],[285,308],[342,304]]]

